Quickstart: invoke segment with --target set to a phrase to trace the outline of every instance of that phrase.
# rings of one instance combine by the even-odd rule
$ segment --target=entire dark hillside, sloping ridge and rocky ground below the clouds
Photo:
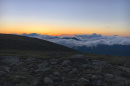
[[[130,58],[0,34],[0,86],[130,86]]]

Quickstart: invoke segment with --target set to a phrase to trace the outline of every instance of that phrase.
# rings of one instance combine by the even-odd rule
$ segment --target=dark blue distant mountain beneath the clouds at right
[[[75,46],[73,49],[80,52],[105,54],[105,55],[118,55],[118,56],[129,56],[130,57],[130,45],[104,45],[99,44],[96,47],[87,46]]]

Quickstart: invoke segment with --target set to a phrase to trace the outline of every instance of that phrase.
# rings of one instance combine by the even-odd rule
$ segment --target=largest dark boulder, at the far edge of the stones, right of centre
[[[73,56],[71,56],[70,60],[73,64],[76,64],[76,65],[90,63],[88,58],[82,54],[73,55]]]

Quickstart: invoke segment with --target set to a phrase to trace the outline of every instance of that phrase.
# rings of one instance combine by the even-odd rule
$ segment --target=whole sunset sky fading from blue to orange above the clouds
[[[130,0],[0,0],[0,33],[130,36]]]

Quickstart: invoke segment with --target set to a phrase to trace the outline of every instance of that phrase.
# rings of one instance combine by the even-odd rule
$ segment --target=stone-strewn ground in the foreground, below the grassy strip
[[[130,86],[130,62],[1,56],[0,86]]]

